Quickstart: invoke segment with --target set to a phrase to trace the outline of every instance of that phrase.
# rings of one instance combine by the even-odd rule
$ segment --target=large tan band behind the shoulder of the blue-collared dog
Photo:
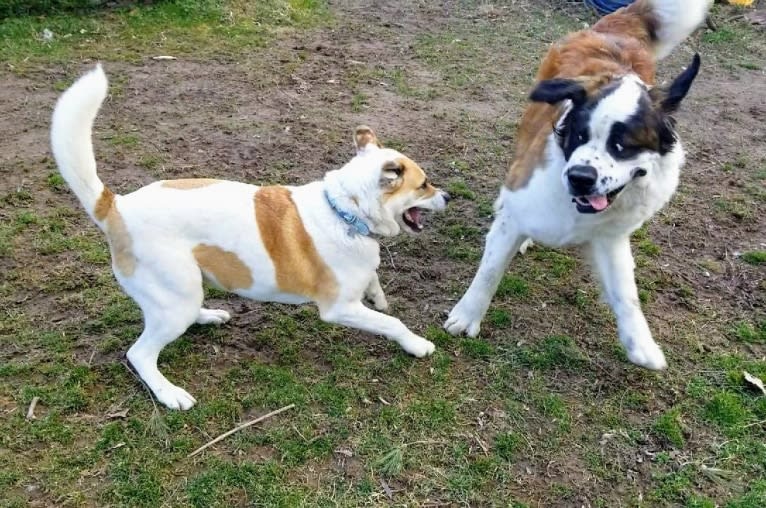
[[[261,187],[254,201],[255,221],[274,263],[279,289],[317,302],[334,301],[338,295],[335,274],[319,256],[290,190],[281,186]]]

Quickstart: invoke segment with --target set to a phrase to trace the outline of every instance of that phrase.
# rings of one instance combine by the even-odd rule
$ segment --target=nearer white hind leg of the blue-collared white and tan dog
[[[174,259],[157,263],[153,271],[141,269],[120,280],[144,314],[144,331],[127,357],[138,376],[161,403],[170,409],[189,409],[197,401],[162,375],[157,358],[162,349],[202,317],[202,277],[199,268]],[[207,310],[207,309],[204,309]]]

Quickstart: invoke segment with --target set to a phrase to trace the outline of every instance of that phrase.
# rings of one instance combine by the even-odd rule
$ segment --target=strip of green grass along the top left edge
[[[156,55],[232,55],[326,15],[317,0],[165,0],[99,10],[52,10],[0,20],[0,63],[17,71],[75,58],[140,61]]]

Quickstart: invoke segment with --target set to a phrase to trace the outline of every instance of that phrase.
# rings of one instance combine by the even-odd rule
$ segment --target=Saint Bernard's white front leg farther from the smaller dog
[[[591,242],[590,251],[604,296],[617,317],[620,342],[628,359],[649,369],[664,369],[667,367],[665,355],[654,342],[641,312],[630,239],[627,236],[599,238]]]

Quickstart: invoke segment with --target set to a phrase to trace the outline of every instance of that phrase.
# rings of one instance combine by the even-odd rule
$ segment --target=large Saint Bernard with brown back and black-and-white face
[[[671,198],[684,162],[670,115],[699,56],[667,87],[655,61],[699,26],[712,0],[638,0],[553,44],[521,120],[479,270],[445,328],[479,333],[508,263],[528,240],[585,245],[633,363],[666,366],[638,299],[630,234]]]

